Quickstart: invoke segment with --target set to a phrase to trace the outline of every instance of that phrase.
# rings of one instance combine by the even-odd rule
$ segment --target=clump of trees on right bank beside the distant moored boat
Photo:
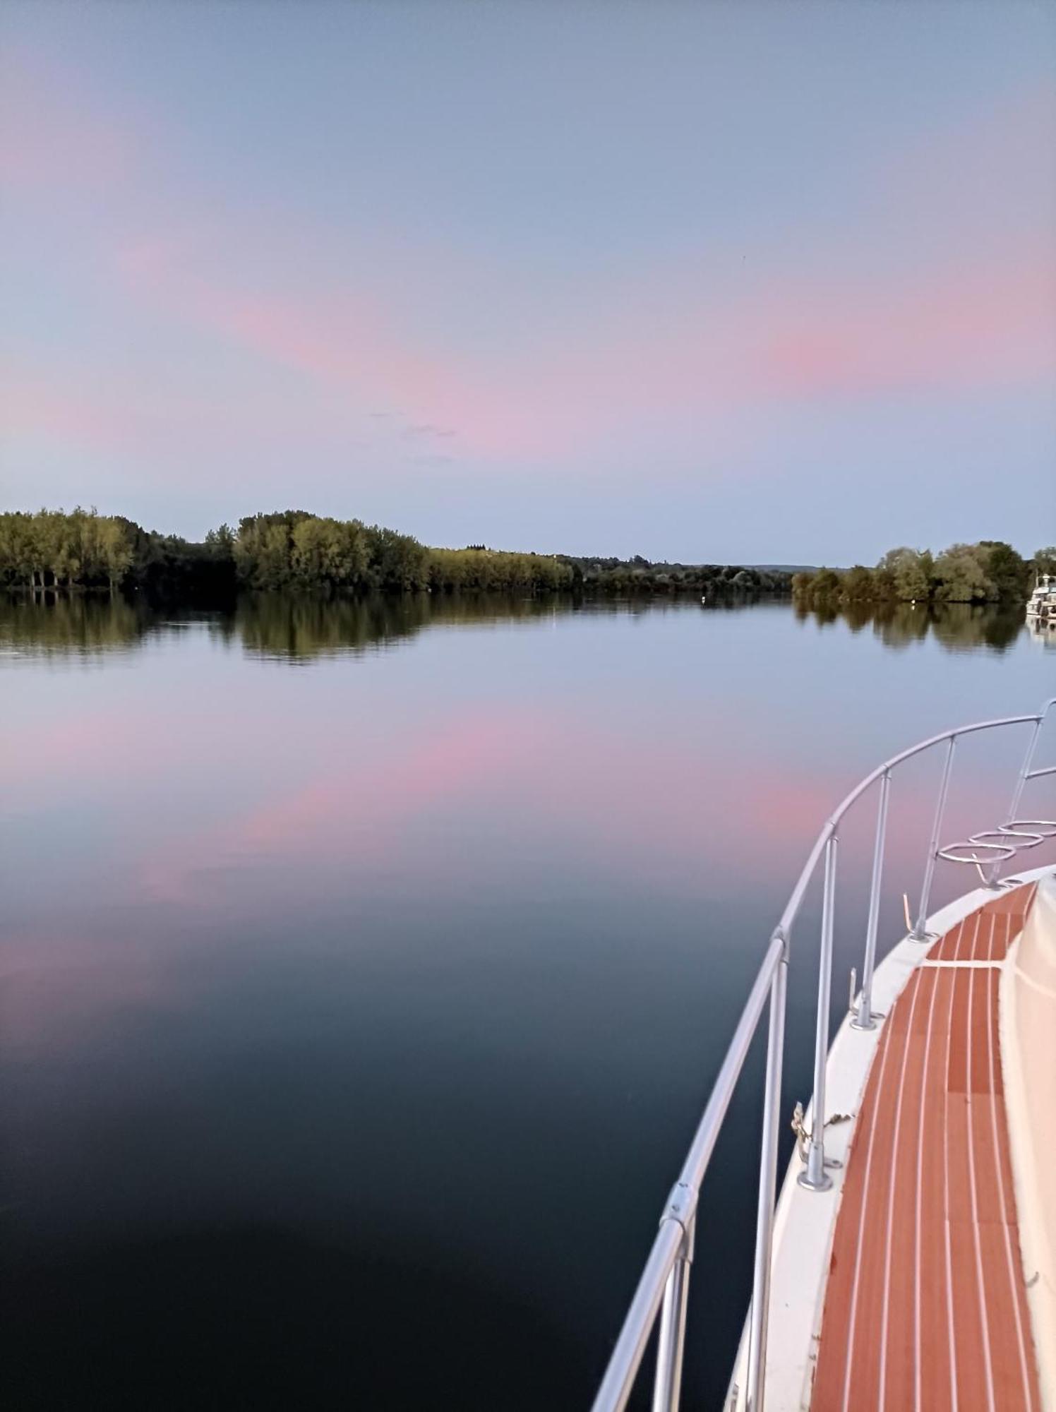
[[[795,573],[792,593],[803,607],[856,603],[1022,603],[1036,573],[1056,572],[1056,546],[1032,559],[1000,539],[929,549],[889,549],[874,569]]]

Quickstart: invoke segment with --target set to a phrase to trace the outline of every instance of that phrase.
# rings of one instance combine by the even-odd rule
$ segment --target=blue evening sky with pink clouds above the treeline
[[[0,508],[1056,539],[1056,6],[0,0]]]

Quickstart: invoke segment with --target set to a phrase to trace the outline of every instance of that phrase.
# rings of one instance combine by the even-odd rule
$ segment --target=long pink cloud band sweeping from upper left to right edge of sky
[[[337,297],[329,308],[280,294],[236,292],[171,258],[130,253],[143,299],[256,357],[304,373],[360,405],[395,402],[455,428],[449,453],[527,457],[587,452],[635,421],[686,411],[716,419],[769,400],[870,395],[899,387],[974,390],[1056,373],[1049,263],[990,261],[913,277],[786,275],[704,312],[695,291],[682,322],[631,318],[568,329],[525,364],[484,371],[456,352],[432,359],[395,337],[384,309]],[[696,305],[696,308],[695,308]]]

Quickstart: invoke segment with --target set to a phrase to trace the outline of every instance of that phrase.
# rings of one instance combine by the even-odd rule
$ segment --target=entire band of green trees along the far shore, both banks
[[[1056,548],[1024,561],[994,539],[940,555],[892,549],[874,569],[791,575],[720,563],[651,563],[572,555],[505,554],[472,545],[431,549],[412,535],[360,520],[285,510],[220,525],[202,544],[143,530],[123,515],[0,514],[0,587],[143,589],[161,597],[230,594],[236,587],[311,593],[549,593],[703,597],[795,594],[805,607],[918,602],[998,603],[1026,597],[1035,572],[1056,572]]]

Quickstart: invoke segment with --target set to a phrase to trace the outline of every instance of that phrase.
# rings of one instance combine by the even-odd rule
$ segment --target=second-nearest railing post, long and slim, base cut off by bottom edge
[[[762,1412],[767,1395],[767,1330],[769,1327],[769,1275],[774,1252],[774,1193],[778,1175],[778,1124],[781,1121],[781,1067],[785,1053],[785,997],[788,994],[788,938],[769,990],[767,1035],[767,1087],[762,1107],[760,1195],[755,1213],[755,1271],[751,1284],[748,1324],[748,1412]]]

